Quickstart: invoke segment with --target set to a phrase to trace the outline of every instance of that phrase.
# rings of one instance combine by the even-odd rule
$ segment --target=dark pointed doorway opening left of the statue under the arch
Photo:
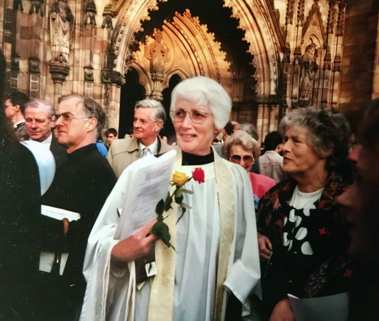
[[[126,83],[121,88],[120,97],[119,138],[133,132],[134,105],[138,100],[146,97],[146,90],[140,84],[140,77],[136,69],[130,68],[130,71],[125,74],[125,79]]]

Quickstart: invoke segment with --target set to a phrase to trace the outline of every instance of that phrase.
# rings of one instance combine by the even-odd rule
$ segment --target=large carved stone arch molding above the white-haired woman
[[[209,11],[208,20],[197,15],[197,8],[204,5],[204,10]],[[228,12],[228,19],[235,24],[230,29],[237,32],[239,39],[224,42],[214,33],[212,6],[221,7],[219,12],[224,14]],[[164,16],[164,10],[172,14]],[[153,96],[157,86],[159,91],[167,88],[174,74],[182,79],[211,77],[227,89],[234,101],[246,96],[276,95],[279,52],[283,52],[284,41],[275,26],[270,0],[116,0],[104,8],[103,15],[116,19],[108,69],[125,74],[130,67],[135,68],[148,96]],[[156,31],[162,32],[161,44],[165,48],[160,70],[152,67],[152,58],[148,59]],[[236,34],[229,35],[228,40]],[[242,62],[237,62],[236,51],[244,53]],[[250,84],[248,89],[246,82]]]

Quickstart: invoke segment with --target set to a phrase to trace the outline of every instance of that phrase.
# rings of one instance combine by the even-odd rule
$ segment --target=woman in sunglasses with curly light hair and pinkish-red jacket
[[[260,149],[259,143],[242,130],[236,130],[231,136],[227,137],[222,149],[227,160],[240,164],[248,172],[256,209],[259,199],[276,184],[272,178],[250,172],[254,160],[259,157]]]

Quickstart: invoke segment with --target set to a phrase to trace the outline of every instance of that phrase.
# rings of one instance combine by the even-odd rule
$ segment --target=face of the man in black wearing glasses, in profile
[[[58,113],[67,113],[71,116],[85,117],[83,110],[83,103],[80,99],[76,97],[71,97],[66,100],[61,101],[58,105]],[[88,128],[86,126],[87,122],[90,120],[88,118],[71,118],[64,119],[64,117],[59,117],[56,122],[57,132],[58,132],[58,142],[67,146],[67,152],[71,153],[77,148],[87,145],[84,143],[87,139]]]

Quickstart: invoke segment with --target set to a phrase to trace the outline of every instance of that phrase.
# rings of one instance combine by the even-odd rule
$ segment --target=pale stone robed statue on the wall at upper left
[[[56,62],[69,60],[74,16],[67,0],[56,0],[50,9],[51,59]]]

